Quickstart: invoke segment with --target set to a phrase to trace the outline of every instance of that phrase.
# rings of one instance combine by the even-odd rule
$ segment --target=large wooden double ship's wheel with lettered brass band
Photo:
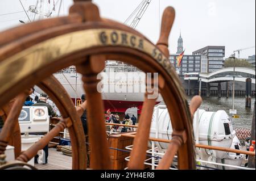
[[[145,73],[158,73],[157,77],[152,76],[146,81],[143,110],[128,168],[144,168],[152,112],[157,98],[150,98],[151,87],[158,83],[154,89],[160,92],[166,103],[174,130],[158,169],[168,169],[176,153],[179,169],[195,169],[192,116],[201,99],[193,99],[191,107],[188,107],[179,78],[168,60],[168,36],[174,17],[174,9],[167,7],[156,45],[130,27],[101,18],[98,7],[90,1],[75,1],[68,16],[40,20],[1,32],[0,108],[5,124],[0,133],[0,154],[4,153],[7,144],[14,145],[14,166],[26,165],[57,133],[68,128],[72,145],[72,169],[86,169],[85,137],[80,120],[83,108],[75,108],[67,92],[52,75],[75,65],[82,74],[87,98],[92,153],[90,168],[110,169],[104,106],[101,93],[97,91],[100,81],[97,74],[104,70],[106,60],[119,60],[137,66]],[[31,94],[30,87],[34,85],[51,96],[63,118],[46,136],[20,153],[20,141],[17,141],[20,140],[18,116],[26,96]],[[12,106],[8,110],[6,107],[10,107],[10,100]],[[6,167],[10,168],[10,165],[2,166]]]

